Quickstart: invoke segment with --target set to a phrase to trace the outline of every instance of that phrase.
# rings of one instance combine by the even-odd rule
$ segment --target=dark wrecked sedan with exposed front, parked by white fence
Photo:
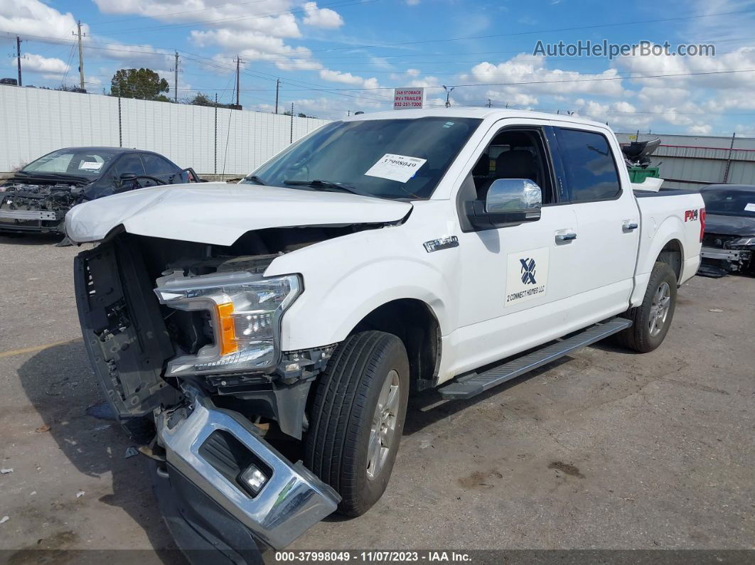
[[[0,233],[63,234],[66,212],[76,204],[145,186],[196,182],[193,169],[151,151],[58,149],[0,184]]]

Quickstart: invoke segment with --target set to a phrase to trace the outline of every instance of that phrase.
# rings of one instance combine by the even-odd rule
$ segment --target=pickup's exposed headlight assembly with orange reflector
[[[263,278],[251,272],[223,272],[158,279],[162,304],[178,310],[209,312],[214,343],[196,355],[168,362],[167,376],[267,370],[280,355],[280,320],[300,294],[298,275]]]

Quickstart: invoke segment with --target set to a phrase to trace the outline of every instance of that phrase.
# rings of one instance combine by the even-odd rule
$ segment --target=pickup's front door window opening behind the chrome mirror
[[[543,204],[552,204],[550,164],[539,130],[506,129],[498,133],[472,170],[478,200],[485,200],[498,179],[529,179],[542,190]]]

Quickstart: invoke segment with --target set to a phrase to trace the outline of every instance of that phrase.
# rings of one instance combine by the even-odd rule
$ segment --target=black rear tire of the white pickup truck
[[[667,285],[669,303],[667,314],[658,328],[657,333],[651,330],[650,321],[655,310],[654,298],[663,285]],[[661,345],[673,320],[673,312],[676,309],[676,274],[668,263],[656,262],[650,273],[650,280],[645,291],[643,303],[636,308],[630,309],[624,318],[633,321],[632,327],[616,334],[616,341],[636,352],[648,353]]]

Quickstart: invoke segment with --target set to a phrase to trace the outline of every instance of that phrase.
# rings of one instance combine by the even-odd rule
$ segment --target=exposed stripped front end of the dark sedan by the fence
[[[66,212],[83,198],[88,180],[12,177],[0,187],[0,232],[63,234]]]

